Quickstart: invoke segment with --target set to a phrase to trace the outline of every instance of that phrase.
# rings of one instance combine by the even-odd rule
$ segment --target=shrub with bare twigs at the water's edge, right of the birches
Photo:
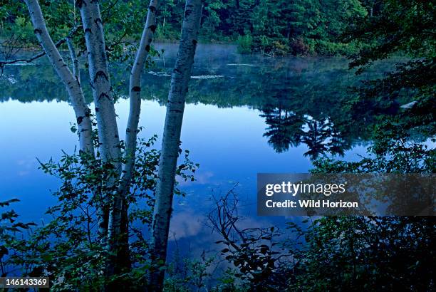
[[[215,199],[216,206],[208,216],[212,231],[222,237],[216,242],[224,246],[220,253],[236,268],[233,277],[251,291],[278,291],[286,287],[291,254],[277,246],[276,239],[281,233],[274,226],[242,228],[244,218],[238,214],[238,202],[232,189]]]

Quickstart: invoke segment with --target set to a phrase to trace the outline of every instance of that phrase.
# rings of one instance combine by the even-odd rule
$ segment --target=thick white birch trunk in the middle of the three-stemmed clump
[[[81,11],[83,30],[85,31],[85,44],[88,51],[90,85],[93,89],[95,104],[95,116],[98,124],[98,141],[100,152],[104,161],[113,163],[115,172],[121,172],[121,151],[118,125],[115,115],[112,88],[108,71],[108,60],[105,51],[105,38],[103,21],[100,16],[98,1],[77,1]],[[115,162],[114,162],[115,160]],[[107,187],[113,187],[115,179],[105,182]],[[98,210],[99,234],[102,244],[106,244],[107,238],[115,239],[119,234],[114,234],[109,222],[109,208],[114,212],[121,212],[122,198],[115,194],[113,202],[110,202],[111,194],[102,194],[102,206]],[[109,246],[111,249],[111,246]]]

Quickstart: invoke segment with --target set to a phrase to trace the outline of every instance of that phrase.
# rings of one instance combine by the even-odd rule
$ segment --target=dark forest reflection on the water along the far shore
[[[164,51],[144,74],[143,98],[165,105],[177,46],[157,44],[156,48]],[[344,58],[267,58],[239,55],[234,46],[200,46],[187,103],[259,110],[265,122],[264,137],[276,152],[306,145],[304,155],[311,159],[343,155],[368,140],[368,120],[353,120],[347,110],[353,99],[350,88],[388,68],[391,63],[384,62],[356,76]],[[115,93],[125,98],[128,70],[112,66],[112,72]],[[87,74],[82,78],[82,83],[88,83]],[[8,66],[0,87],[1,101],[67,100],[63,85],[46,63]],[[88,87],[85,96],[91,102]]]

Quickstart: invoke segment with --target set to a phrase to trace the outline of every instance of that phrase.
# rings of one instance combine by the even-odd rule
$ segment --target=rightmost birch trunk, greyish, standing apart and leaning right
[[[185,98],[190,81],[192,64],[201,19],[202,1],[187,0],[182,24],[182,39],[174,71],[172,71],[167,114],[159,163],[159,179],[153,211],[152,242],[150,256],[154,263],[150,272],[150,290],[162,291],[167,256],[168,231],[172,213],[172,197],[175,187],[175,171],[180,147]]]

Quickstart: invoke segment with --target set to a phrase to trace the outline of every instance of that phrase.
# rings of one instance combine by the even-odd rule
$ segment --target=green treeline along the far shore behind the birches
[[[80,16],[72,1],[41,1],[56,31],[64,36]],[[136,41],[142,28],[147,1],[102,1],[102,16],[108,41]],[[365,46],[350,37],[366,18],[376,17],[383,0],[204,0],[201,38],[203,42],[237,42],[241,53],[280,55],[350,55]],[[19,2],[0,7],[0,36],[21,36],[35,41]],[[21,7],[20,7],[21,6]],[[162,1],[157,13],[157,41],[177,41],[185,1]],[[125,24],[128,24],[125,26]],[[127,27],[120,31],[121,27]],[[347,37],[348,36],[348,37]]]

